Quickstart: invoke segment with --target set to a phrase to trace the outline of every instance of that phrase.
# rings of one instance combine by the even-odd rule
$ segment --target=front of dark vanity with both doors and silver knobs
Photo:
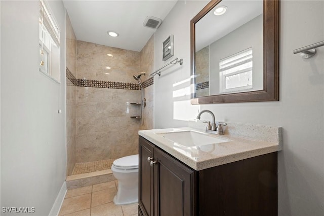
[[[142,137],[139,143],[139,215],[195,215],[194,170]]]

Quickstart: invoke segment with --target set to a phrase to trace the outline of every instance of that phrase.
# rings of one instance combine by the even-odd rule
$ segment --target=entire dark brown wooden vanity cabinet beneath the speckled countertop
[[[196,171],[140,136],[139,215],[277,215],[277,153]]]

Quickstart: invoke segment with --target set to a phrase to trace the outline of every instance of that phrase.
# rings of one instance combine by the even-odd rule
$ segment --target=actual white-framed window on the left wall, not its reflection
[[[43,0],[40,6],[39,71],[60,82],[60,29]]]

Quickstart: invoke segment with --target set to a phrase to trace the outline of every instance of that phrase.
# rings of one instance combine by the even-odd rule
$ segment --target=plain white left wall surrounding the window
[[[50,8],[61,28],[61,85],[38,71],[39,2],[1,2],[1,207],[34,207],[33,215],[49,214],[65,181],[65,9]]]

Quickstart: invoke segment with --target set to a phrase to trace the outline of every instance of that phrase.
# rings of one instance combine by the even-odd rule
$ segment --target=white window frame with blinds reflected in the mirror
[[[235,56],[238,56],[238,55],[241,55],[242,53],[245,53],[245,52],[251,52],[251,54],[248,54],[248,55],[251,55],[251,60],[244,60],[244,61],[241,61],[241,62],[238,62],[236,64],[231,64],[229,66],[225,66],[227,63],[224,63],[224,61],[226,60],[229,60],[229,59],[232,59],[232,58],[235,58]],[[241,58],[244,58],[241,57]],[[240,59],[240,58],[239,58]],[[238,59],[236,60],[233,60],[233,61],[237,61]],[[239,69],[239,70],[235,70],[231,73],[226,73],[226,71],[230,70],[231,68],[233,67],[237,67],[237,66],[240,66],[240,65],[244,65],[246,63],[249,63],[251,62],[251,67],[248,67],[248,68],[244,68],[244,69]],[[251,73],[253,73],[253,50],[252,50],[252,47],[248,48],[248,49],[245,49],[245,50],[242,50],[238,53],[235,53],[231,56],[228,56],[226,58],[223,58],[219,61],[219,92],[220,93],[228,93],[228,92],[237,92],[237,91],[241,91],[241,90],[251,90],[253,89],[253,80],[251,78],[251,85],[246,85],[246,86],[239,86],[239,87],[234,87],[234,88],[226,88],[226,78],[227,77],[231,77],[233,75],[238,75],[238,74],[243,74],[243,73],[246,73],[248,71],[251,71]]]

